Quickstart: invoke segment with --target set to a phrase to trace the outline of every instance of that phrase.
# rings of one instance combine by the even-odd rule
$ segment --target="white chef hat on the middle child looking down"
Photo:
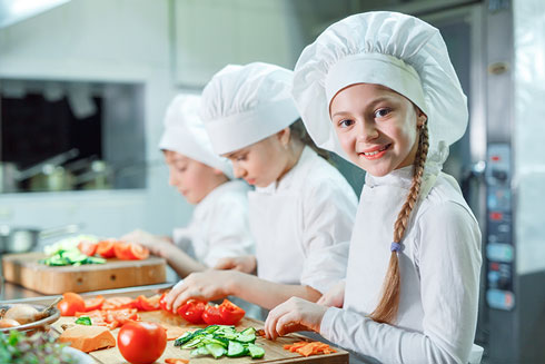
[[[254,62],[229,65],[202,91],[201,119],[217,154],[262,140],[299,119],[293,71]]]

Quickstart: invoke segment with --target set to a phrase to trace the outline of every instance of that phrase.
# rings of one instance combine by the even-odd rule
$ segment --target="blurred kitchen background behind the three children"
[[[470,119],[445,169],[483,230],[476,342],[485,362],[543,363],[543,0],[0,0],[0,233],[185,226],[157,149],[171,98],[226,63],[294,68],[368,10],[417,16],[447,43]],[[363,173],[336,164],[359,194]]]

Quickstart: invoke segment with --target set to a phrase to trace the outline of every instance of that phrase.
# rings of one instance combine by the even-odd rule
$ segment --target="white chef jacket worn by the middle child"
[[[340,173],[305,147],[280,179],[249,193],[260,278],[321,293],[346,275],[357,196]]]

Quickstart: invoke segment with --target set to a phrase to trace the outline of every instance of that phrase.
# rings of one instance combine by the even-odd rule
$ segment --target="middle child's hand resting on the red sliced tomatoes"
[[[215,301],[230,294],[229,285],[234,272],[205,270],[191,273],[174,286],[165,297],[167,309],[177,312],[188,299]]]

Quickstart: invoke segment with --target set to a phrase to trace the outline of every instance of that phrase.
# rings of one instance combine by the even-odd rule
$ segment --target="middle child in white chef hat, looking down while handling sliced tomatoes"
[[[201,116],[214,149],[256,186],[249,193],[256,255],[224,259],[231,270],[190,275],[171,291],[168,307],[235,295],[270,309],[291,296],[317,301],[345,276],[357,197],[303,141],[291,78],[255,62],[227,66],[206,86]]]

